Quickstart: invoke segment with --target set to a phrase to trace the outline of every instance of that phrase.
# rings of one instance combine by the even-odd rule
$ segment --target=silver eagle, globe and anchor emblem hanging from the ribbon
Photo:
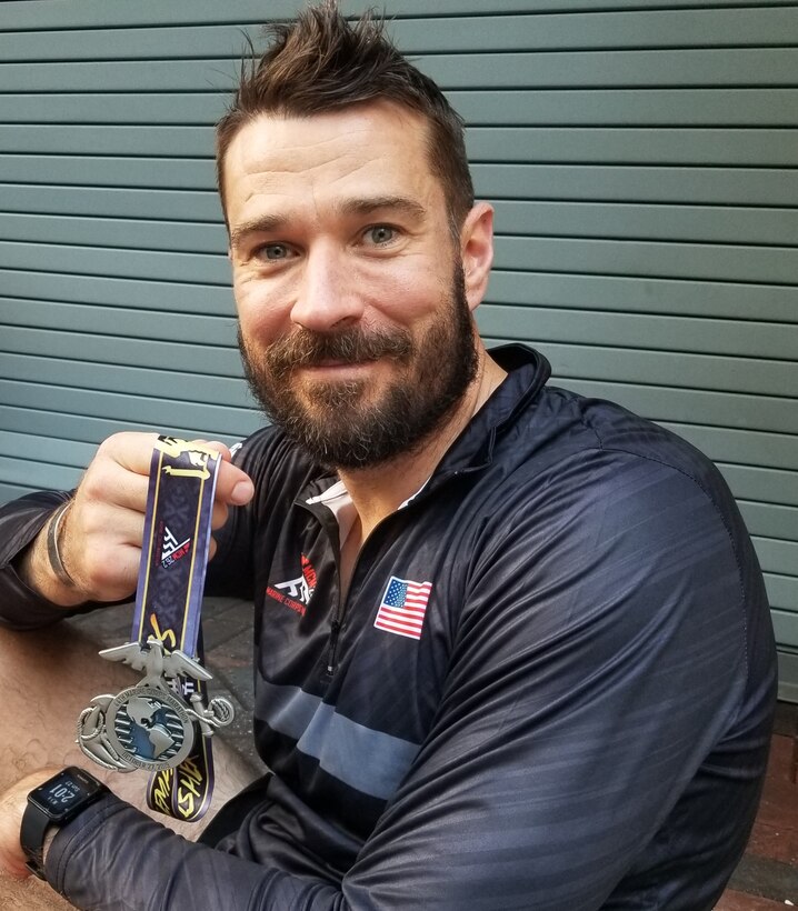
[[[179,765],[194,742],[194,724],[205,737],[229,724],[233,708],[223,697],[202,704],[199,692],[189,702],[170,687],[178,678],[207,681],[211,674],[186,652],[167,652],[159,639],[147,645],[128,642],[100,652],[109,661],[123,661],[144,678],[118,695],[96,695],[78,719],[80,749],[106,769],[130,772],[134,769],[160,771]]]

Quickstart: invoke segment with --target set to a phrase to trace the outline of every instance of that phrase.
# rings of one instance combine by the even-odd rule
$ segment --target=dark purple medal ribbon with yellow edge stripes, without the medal
[[[136,591],[132,640],[159,639],[168,652],[180,649],[203,660],[200,613],[205,587],[217,468],[221,457],[199,443],[159,437],[150,463],[144,539]],[[178,678],[186,702],[206,683]],[[153,772],[147,803],[176,819],[196,822],[213,791],[211,739],[194,724],[191,753],[176,768]]]

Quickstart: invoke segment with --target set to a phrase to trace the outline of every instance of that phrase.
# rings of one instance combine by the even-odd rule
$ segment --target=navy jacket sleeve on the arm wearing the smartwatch
[[[130,911],[640,907],[605,903],[687,800],[695,840],[675,821],[684,843],[662,857],[681,850],[716,894],[767,757],[761,578],[690,478],[638,469],[597,465],[600,495],[592,473],[562,469],[559,489],[485,529],[436,722],[340,884],[188,843],[110,797],[56,837],[50,882],[78,908]],[[747,713],[740,742],[724,741]]]

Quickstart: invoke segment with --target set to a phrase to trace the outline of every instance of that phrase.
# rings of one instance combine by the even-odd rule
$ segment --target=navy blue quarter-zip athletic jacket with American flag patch
[[[750,540],[692,447],[547,387],[528,349],[492,354],[509,377],[365,542],[346,597],[338,479],[272,429],[245,442],[257,494],[209,588],[253,599],[273,775],[216,849],[94,804],[47,859],[79,908],[712,907],[775,699]],[[0,522],[9,624],[57,615],[8,565],[53,502]]]

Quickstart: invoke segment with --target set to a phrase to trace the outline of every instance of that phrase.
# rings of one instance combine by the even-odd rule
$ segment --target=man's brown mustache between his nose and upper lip
[[[401,360],[412,352],[412,339],[405,329],[351,328],[338,332],[316,332],[297,329],[289,336],[272,342],[266,351],[266,363],[275,376],[290,372],[297,367],[313,367],[335,360],[342,363],[360,363],[379,358]]]

